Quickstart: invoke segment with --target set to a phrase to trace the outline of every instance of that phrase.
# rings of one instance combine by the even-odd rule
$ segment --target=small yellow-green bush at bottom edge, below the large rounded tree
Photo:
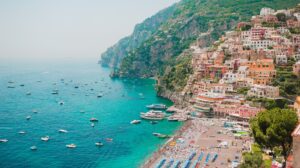
[[[253,168],[262,167],[263,157],[260,152],[248,152],[243,156],[243,163],[240,164],[239,168]]]

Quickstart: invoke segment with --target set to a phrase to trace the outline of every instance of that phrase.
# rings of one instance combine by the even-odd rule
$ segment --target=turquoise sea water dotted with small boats
[[[146,111],[145,105],[171,102],[156,97],[153,80],[112,80],[108,75],[108,69],[92,61],[0,63],[0,138],[9,140],[0,144],[0,167],[138,167],[164,143],[152,132],[172,134],[180,124],[129,124]],[[8,81],[15,88],[7,88]],[[53,89],[59,95],[52,95]],[[101,91],[104,96],[97,98]],[[99,119],[94,128],[91,117]],[[69,132],[60,134],[59,129]],[[27,134],[18,134],[21,130]],[[51,139],[41,141],[46,135]],[[104,146],[97,148],[97,141]],[[70,143],[77,148],[67,149]],[[33,145],[37,151],[30,150]]]

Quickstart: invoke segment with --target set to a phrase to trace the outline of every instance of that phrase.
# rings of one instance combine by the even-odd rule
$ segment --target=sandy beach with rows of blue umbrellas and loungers
[[[175,167],[177,162],[184,167],[187,160],[189,167],[232,167],[250,144],[249,136],[236,137],[225,128],[224,120],[194,118],[141,167]]]

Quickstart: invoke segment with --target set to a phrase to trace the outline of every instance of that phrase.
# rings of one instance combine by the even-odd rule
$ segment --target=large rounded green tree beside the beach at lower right
[[[273,150],[282,149],[282,155],[287,159],[291,151],[292,132],[298,123],[294,110],[274,108],[259,113],[251,120],[251,129],[255,141],[262,147]]]

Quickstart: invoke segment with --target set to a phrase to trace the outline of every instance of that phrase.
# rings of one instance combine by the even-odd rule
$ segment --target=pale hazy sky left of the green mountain
[[[97,61],[135,24],[179,0],[0,0],[0,62]]]

